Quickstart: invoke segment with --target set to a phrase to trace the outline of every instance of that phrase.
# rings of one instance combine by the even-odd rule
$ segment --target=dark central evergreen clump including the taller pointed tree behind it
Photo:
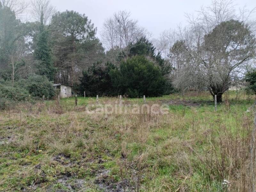
[[[107,62],[95,63],[83,72],[80,78],[80,93],[95,95],[126,95],[129,97],[161,96],[173,91],[169,74],[170,63],[160,53],[155,54],[155,47],[141,37],[131,46],[129,54],[121,51],[117,55],[118,66]]]

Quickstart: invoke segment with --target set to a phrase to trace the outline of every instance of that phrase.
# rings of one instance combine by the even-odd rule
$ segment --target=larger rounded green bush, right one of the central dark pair
[[[123,60],[119,70],[110,71],[110,77],[116,90],[129,97],[160,96],[165,92],[166,79],[160,68],[145,56]]]

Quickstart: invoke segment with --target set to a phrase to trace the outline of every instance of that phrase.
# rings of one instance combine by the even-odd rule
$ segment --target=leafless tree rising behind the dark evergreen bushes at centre
[[[115,57],[123,50],[124,56],[128,56],[132,43],[147,36],[147,31],[131,18],[130,12],[118,11],[104,22],[100,35],[109,54]]]

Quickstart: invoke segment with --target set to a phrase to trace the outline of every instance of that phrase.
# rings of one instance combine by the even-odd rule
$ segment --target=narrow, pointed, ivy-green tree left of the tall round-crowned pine
[[[52,52],[48,42],[48,32],[44,26],[44,15],[41,15],[39,34],[35,49],[35,58],[38,60],[38,75],[44,75],[49,80],[53,80],[54,66]]]

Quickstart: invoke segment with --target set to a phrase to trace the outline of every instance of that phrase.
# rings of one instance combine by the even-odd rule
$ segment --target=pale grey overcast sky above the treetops
[[[166,29],[185,24],[185,13],[195,13],[202,5],[208,6],[211,0],[51,0],[57,11],[74,10],[85,14],[97,27],[97,36],[106,18],[120,10],[131,12],[139,25],[152,33],[154,38]],[[235,0],[240,7],[256,7],[256,0]],[[256,14],[254,14],[256,17]]]

